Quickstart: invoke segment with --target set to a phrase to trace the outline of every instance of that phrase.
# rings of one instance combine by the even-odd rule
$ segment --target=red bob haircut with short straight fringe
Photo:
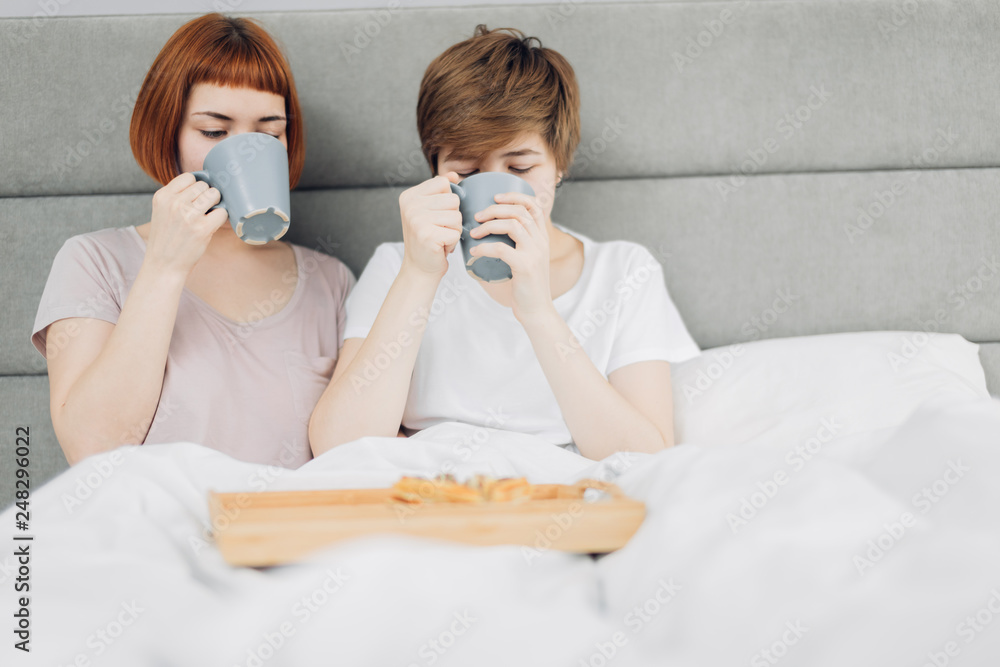
[[[143,171],[163,185],[180,173],[177,134],[188,94],[198,83],[252,88],[285,98],[288,176],[295,187],[306,151],[292,71],[260,24],[222,14],[206,14],[185,23],[149,68],[129,127],[132,154]]]

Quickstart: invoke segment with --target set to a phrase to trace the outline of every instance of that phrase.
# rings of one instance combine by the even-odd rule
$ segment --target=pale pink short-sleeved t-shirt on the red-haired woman
[[[261,300],[234,322],[184,289],[160,402],[144,443],[189,441],[255,463],[312,458],[309,415],[333,373],[354,276],[340,260],[292,245],[298,281],[281,310]],[[31,342],[70,317],[118,321],[146,252],[135,227],[66,241],[52,263]],[[291,283],[295,276],[285,277]],[[141,437],[141,434],[137,436]]]

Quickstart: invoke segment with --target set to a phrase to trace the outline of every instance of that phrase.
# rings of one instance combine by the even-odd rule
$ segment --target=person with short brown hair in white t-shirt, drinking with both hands
[[[670,362],[699,354],[662,268],[627,241],[552,222],[555,188],[580,141],[573,69],[517,30],[488,30],[427,68],[417,124],[432,178],[400,196],[402,243],[379,246],[348,301],[341,362],[310,423],[319,454],[363,435],[464,422],[575,446],[593,459],[673,444]],[[473,260],[506,262],[480,282],[456,246],[450,184],[514,174],[534,196],[478,213]]]

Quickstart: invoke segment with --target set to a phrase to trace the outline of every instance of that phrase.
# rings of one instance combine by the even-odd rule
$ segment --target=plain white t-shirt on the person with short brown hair
[[[584,264],[576,284],[553,303],[605,377],[638,361],[701,354],[646,248],[598,243],[556,226],[583,242]],[[368,336],[402,262],[402,243],[375,249],[347,299],[344,338]],[[560,352],[581,350],[566,345]],[[449,421],[572,442],[524,328],[466,272],[458,246],[431,305],[402,425],[412,432]]]

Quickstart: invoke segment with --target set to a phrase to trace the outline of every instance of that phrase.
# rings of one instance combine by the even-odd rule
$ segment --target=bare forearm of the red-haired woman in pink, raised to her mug
[[[143,265],[101,352],[52,406],[71,464],[145,439],[163,388],[184,280],[181,273]]]

